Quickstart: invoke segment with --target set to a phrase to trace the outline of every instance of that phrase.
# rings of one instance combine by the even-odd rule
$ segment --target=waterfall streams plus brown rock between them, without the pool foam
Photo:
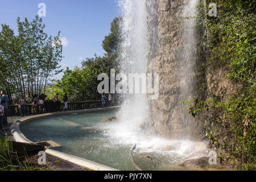
[[[150,126],[170,139],[192,139],[197,132],[183,101],[195,93],[196,5],[199,0],[120,0],[120,72],[159,73],[159,98],[123,94],[119,134]],[[169,12],[167,14],[167,12]],[[148,128],[148,127],[147,127]],[[152,132],[150,132],[152,133]]]

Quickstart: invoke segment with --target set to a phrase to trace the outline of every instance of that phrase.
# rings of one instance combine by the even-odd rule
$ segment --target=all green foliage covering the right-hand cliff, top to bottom
[[[226,160],[236,163],[236,169],[255,169],[256,162],[256,74],[255,74],[255,1],[205,1],[217,4],[217,17],[201,13],[207,33],[207,72],[225,68],[226,78],[241,85],[237,93],[225,100],[209,96],[206,100],[193,97],[184,102],[189,114],[201,113],[209,121],[211,146],[225,152]],[[207,7],[207,6],[206,6]],[[204,6],[200,12],[208,13]]]

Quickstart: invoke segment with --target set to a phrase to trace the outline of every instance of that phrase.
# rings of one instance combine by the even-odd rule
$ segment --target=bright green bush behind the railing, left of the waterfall
[[[96,100],[97,94],[97,76],[100,72],[96,68],[75,68],[64,71],[61,80],[46,89],[47,99],[53,99],[58,92],[59,100],[62,100],[64,93],[68,94],[69,101],[89,101]]]

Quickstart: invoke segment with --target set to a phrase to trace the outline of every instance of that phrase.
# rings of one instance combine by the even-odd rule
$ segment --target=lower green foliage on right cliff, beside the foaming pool
[[[211,146],[220,147],[238,160],[237,167],[255,165],[256,160],[256,96],[237,93],[228,101],[210,97],[199,101],[196,97],[188,104],[189,113],[210,115],[211,126],[207,129]]]

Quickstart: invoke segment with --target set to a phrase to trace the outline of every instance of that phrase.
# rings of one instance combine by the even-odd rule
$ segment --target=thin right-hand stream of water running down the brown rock
[[[190,96],[195,94],[195,76],[196,76],[196,48],[197,48],[197,39],[196,39],[196,20],[194,16],[196,15],[196,5],[198,0],[189,0],[184,1],[185,5],[183,6],[183,31],[182,31],[182,49],[181,49],[181,64],[179,72],[180,74],[180,94],[177,98],[177,106],[180,113],[180,137],[182,138],[192,138],[195,130],[193,129],[193,120],[191,115],[188,114],[187,109],[181,105],[183,101],[188,101]],[[177,119],[177,118],[172,118]]]

